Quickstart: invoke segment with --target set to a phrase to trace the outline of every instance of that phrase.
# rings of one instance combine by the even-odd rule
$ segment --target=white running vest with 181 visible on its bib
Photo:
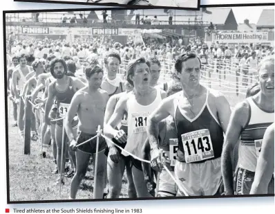
[[[149,105],[140,105],[135,100],[135,94],[129,94],[128,100],[128,136],[125,150],[142,158],[142,146],[147,138],[146,126],[149,115],[160,105],[162,101],[161,90],[157,90],[155,100]],[[122,152],[124,156],[129,156]]]

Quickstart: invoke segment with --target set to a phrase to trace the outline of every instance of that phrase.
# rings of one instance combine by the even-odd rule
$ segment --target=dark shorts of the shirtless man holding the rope
[[[84,132],[79,132],[77,135],[77,145],[80,143],[84,143],[85,141],[88,141],[88,139],[91,139],[93,136],[96,135],[97,134],[87,134]],[[107,144],[105,139],[102,136],[99,136],[98,152],[105,150],[106,145]],[[95,154],[97,149],[97,138],[89,141],[88,143],[80,145],[77,149],[88,154]]]

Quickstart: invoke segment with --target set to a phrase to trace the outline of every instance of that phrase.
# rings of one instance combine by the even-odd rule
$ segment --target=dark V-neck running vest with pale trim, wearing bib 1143
[[[217,159],[222,154],[223,130],[211,112],[208,96],[209,89],[207,89],[205,105],[192,120],[180,111],[179,100],[174,101],[176,109],[174,118],[178,132],[178,161],[184,162],[183,154],[186,163],[202,163]]]

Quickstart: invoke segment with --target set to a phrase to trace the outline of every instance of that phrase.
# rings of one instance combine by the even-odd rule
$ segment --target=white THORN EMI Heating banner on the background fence
[[[252,33],[213,33],[212,42],[219,43],[258,43],[268,40],[268,32]]]

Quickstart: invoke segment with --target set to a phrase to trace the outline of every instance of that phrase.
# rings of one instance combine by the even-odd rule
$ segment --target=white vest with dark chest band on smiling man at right
[[[255,172],[263,135],[267,127],[274,123],[274,112],[260,109],[252,97],[247,98],[246,102],[249,104],[249,122],[240,134],[238,167]]]

